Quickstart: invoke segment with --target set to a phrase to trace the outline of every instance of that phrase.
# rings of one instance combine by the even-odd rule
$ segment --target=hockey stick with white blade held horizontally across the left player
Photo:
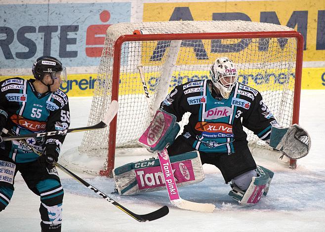
[[[85,130],[95,130],[95,129],[101,129],[112,121],[112,119],[115,117],[119,109],[119,103],[115,100],[111,102],[111,105],[108,108],[108,111],[106,112],[104,119],[97,123],[96,125],[92,126],[85,126],[85,127],[79,127],[79,128],[72,128],[72,129],[66,129],[66,130],[55,130],[55,131],[47,131],[47,132],[41,132],[41,133],[33,133],[33,134],[27,134],[27,135],[12,135],[8,137],[3,137],[3,141],[11,141],[11,140],[18,140],[18,139],[28,139],[28,138],[38,138],[43,136],[52,136],[52,135],[66,135],[67,133],[73,133],[73,132],[79,132],[79,131],[85,131]]]

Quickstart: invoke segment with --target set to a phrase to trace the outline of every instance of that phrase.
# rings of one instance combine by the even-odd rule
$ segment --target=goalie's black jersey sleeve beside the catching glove
[[[262,96],[258,93],[249,110],[243,116],[243,125],[254,132],[262,140],[270,139],[271,127],[278,124],[275,117],[264,104]]]

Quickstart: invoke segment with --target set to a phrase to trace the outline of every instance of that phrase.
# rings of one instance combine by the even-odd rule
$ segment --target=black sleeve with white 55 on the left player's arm
[[[65,96],[64,105],[50,112],[47,118],[46,131],[63,130],[70,126],[70,109],[68,97]],[[65,135],[47,136],[45,138],[46,154],[59,155]]]

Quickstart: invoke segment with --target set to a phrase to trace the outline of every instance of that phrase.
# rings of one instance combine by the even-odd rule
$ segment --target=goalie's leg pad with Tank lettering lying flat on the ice
[[[198,151],[170,156],[177,187],[192,185],[204,180]],[[113,170],[117,192],[135,195],[166,189],[159,159],[127,163]]]

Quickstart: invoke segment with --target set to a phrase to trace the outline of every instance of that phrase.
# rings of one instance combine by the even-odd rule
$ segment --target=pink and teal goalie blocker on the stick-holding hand
[[[138,143],[146,147],[149,152],[162,151],[174,142],[179,130],[176,116],[158,109]]]

